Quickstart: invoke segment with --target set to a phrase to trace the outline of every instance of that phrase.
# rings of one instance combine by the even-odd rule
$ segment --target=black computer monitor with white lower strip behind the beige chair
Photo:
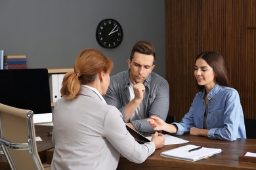
[[[0,103],[29,109],[33,122],[53,122],[47,69],[0,70]]]

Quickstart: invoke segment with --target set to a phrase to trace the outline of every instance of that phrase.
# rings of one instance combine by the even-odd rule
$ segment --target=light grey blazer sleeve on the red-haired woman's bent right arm
[[[142,163],[156,149],[153,142],[139,144],[127,131],[121,113],[116,107],[108,109],[104,119],[104,137],[118,150],[118,152],[135,163]]]

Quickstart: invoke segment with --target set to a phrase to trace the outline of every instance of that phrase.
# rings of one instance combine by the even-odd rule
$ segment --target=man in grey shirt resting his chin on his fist
[[[139,41],[127,60],[127,71],[111,76],[104,99],[123,115],[123,121],[139,133],[154,133],[150,116],[165,121],[169,110],[169,84],[154,73],[156,53],[151,42]]]

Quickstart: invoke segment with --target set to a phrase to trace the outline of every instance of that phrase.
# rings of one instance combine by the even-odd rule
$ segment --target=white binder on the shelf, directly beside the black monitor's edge
[[[56,102],[58,98],[58,74],[49,76],[49,86],[51,93],[51,102]]]

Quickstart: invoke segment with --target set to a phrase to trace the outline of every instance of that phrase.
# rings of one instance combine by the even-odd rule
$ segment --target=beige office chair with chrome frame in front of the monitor
[[[0,127],[1,148],[11,169],[45,169],[37,153],[32,110],[0,103]]]

